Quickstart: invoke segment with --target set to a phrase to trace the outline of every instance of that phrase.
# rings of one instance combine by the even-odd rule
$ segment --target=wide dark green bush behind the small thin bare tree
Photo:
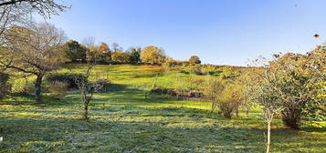
[[[64,73],[64,74],[49,74],[46,77],[47,82],[50,82],[52,84],[61,82],[66,83],[68,88],[78,88],[78,85],[76,84],[76,81],[83,81],[82,79],[85,79],[85,77],[81,74],[74,74],[74,73]],[[88,80],[84,80],[88,81]]]

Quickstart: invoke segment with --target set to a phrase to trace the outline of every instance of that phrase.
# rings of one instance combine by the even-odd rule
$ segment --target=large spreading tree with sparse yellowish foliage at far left
[[[66,61],[62,47],[66,35],[50,24],[14,26],[5,31],[5,46],[0,49],[0,66],[37,76],[36,100],[41,101],[43,76]]]

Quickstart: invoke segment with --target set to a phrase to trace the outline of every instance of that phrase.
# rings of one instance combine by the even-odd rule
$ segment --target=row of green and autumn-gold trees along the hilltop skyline
[[[64,45],[67,62],[78,63],[87,60],[97,60],[101,64],[150,64],[150,65],[169,65],[184,66],[189,64],[201,64],[198,56],[191,56],[189,61],[176,61],[165,55],[162,47],[146,46],[130,47],[123,50],[117,43],[108,45],[104,42],[100,46],[95,46],[91,41],[80,44],[78,41],[69,40]]]

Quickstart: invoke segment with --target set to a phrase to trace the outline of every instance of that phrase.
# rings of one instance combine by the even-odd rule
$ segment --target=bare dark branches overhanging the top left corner
[[[2,0],[0,2],[0,36],[8,27],[29,20],[35,12],[49,18],[68,8],[69,6],[58,4],[55,0]]]

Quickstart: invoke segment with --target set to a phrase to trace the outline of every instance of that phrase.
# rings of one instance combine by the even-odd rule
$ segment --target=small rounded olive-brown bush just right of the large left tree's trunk
[[[55,82],[52,86],[48,87],[51,97],[60,98],[67,96],[68,84],[64,82]]]

